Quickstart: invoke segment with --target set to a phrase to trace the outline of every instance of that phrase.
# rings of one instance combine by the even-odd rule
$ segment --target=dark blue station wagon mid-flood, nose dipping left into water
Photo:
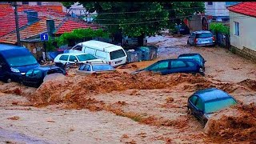
[[[155,62],[154,64],[133,72],[132,74],[138,74],[142,71],[156,72],[162,75],[174,74],[174,73],[190,73],[190,74],[202,74],[204,70],[202,67],[192,58],[178,58],[178,59],[166,59]]]

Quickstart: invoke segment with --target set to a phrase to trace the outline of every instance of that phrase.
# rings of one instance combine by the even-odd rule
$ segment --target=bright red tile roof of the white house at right
[[[230,6],[228,10],[256,18],[256,2],[241,2]]]

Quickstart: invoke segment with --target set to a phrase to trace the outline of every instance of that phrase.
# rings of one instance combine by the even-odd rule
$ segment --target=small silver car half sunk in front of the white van
[[[103,74],[114,72],[114,67],[106,62],[87,62],[82,64],[77,70],[78,74]]]

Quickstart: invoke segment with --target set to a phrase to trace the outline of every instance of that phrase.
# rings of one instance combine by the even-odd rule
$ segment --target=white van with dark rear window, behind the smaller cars
[[[127,54],[122,46],[116,46],[106,42],[90,40],[78,43],[70,49],[70,52],[82,51],[92,54],[96,58],[108,62],[111,66],[119,66],[126,63]]]

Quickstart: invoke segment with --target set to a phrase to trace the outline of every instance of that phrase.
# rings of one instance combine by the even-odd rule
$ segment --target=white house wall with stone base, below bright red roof
[[[239,22],[239,36],[235,35],[234,22]],[[256,18],[230,11],[230,45],[237,54],[256,58]]]

